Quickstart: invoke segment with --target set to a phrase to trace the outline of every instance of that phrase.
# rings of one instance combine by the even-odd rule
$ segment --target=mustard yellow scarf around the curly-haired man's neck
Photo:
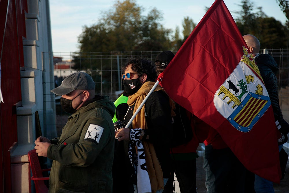
[[[140,106],[144,98],[147,96],[147,94],[149,93],[154,84],[155,82],[145,82],[142,85],[142,87],[140,87],[137,93],[129,96],[127,104],[129,106],[135,104],[134,113],[136,112],[136,110],[138,109],[138,107]],[[160,90],[164,91],[164,89],[158,85],[154,91]],[[170,106],[171,106],[171,114],[172,116],[175,116],[175,113],[173,111],[175,109],[175,105],[173,103],[173,100],[171,100],[171,98],[170,98]],[[132,121],[132,127],[147,129],[144,105],[142,106],[142,109],[138,112],[138,114]],[[163,173],[160,167],[160,163],[158,162],[158,158],[155,154],[153,144],[145,140],[142,140],[142,144],[144,146],[145,161],[147,165],[147,171],[149,173],[149,179],[151,182],[151,190],[152,192],[156,192],[156,190],[164,189]]]

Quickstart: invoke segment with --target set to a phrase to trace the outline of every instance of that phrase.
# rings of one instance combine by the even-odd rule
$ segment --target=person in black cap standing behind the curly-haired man
[[[157,75],[162,73],[174,58],[171,51],[164,51],[155,57]],[[193,115],[179,104],[175,103],[173,117],[173,142],[171,143],[171,176],[164,187],[163,193],[173,192],[174,173],[179,182],[181,193],[196,192],[196,149],[199,140],[194,133]]]

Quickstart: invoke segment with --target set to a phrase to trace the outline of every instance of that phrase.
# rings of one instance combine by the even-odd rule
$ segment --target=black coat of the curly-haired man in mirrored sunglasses
[[[169,98],[163,91],[152,92],[144,104],[146,113],[147,129],[144,138],[149,135],[149,141],[155,148],[158,161],[162,168],[163,176],[170,176],[170,152],[169,145],[173,137],[173,124]],[[116,117],[124,125],[133,115],[134,105],[127,103],[119,104],[116,107]],[[125,117],[125,119],[124,119]],[[130,127],[132,124],[130,125]],[[145,140],[143,138],[143,140]],[[136,184],[136,175],[128,156],[128,141],[116,140],[116,151],[112,167],[113,192],[134,192],[133,183]]]

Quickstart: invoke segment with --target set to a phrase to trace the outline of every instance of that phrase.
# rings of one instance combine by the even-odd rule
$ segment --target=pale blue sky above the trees
[[[77,52],[77,36],[81,34],[84,25],[91,26],[98,23],[101,12],[113,8],[115,0],[50,0],[51,30],[53,52]],[[233,18],[234,11],[241,8],[241,0],[224,0]],[[254,7],[262,6],[263,12],[270,17],[285,23],[286,16],[279,8],[276,0],[253,0]],[[155,7],[163,13],[164,27],[175,30],[184,17],[189,16],[195,23],[199,23],[205,15],[205,6],[210,7],[214,0],[136,0],[144,8],[143,14]]]

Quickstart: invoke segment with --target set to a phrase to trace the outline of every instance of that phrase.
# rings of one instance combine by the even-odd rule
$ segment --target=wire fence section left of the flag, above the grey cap
[[[108,95],[112,101],[123,90],[121,64],[130,56],[153,60],[160,51],[150,52],[60,52],[53,53],[55,87],[70,73],[85,71],[95,80],[96,93]]]

